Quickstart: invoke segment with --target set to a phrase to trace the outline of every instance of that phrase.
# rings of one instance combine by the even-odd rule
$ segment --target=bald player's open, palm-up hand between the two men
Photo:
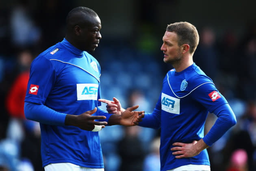
[[[124,126],[135,126],[141,122],[144,117],[144,111],[133,111],[139,108],[139,106],[132,106],[127,108],[124,112],[121,113],[120,125]]]

